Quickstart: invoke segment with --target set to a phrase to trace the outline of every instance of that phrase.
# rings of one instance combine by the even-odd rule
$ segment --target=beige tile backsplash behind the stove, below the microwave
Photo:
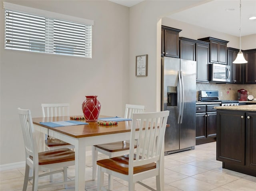
[[[218,90],[219,100],[238,100],[238,90],[240,89],[245,89],[248,95],[253,95],[256,98],[255,84],[196,83],[196,96],[198,96],[198,90]]]

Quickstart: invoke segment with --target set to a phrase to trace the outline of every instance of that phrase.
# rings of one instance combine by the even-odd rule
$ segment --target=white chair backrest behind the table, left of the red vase
[[[43,117],[69,116],[69,103],[42,103]]]

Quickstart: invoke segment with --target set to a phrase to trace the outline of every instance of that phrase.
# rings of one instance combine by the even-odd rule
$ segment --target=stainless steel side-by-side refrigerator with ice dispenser
[[[162,57],[161,110],[169,110],[164,154],[196,145],[196,61]]]

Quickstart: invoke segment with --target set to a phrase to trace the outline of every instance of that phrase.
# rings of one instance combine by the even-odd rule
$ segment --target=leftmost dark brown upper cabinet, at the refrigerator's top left
[[[161,56],[180,57],[179,32],[182,30],[162,26],[162,53]]]

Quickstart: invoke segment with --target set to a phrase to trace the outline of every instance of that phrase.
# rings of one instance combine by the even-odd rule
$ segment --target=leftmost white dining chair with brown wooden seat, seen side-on
[[[65,185],[66,188],[67,183],[74,183],[74,180],[68,181],[67,179],[67,167],[75,164],[75,152],[68,148],[61,148],[38,153],[30,110],[18,108],[18,114],[20,116],[26,153],[23,191],[26,191],[29,179],[33,179],[32,191],[57,185]],[[59,169],[60,167],[63,169]],[[30,169],[33,169],[32,177],[29,177]],[[40,172],[39,174],[39,171],[48,169],[53,170],[47,173]],[[63,181],[38,185],[39,177],[60,172],[63,173]]]

